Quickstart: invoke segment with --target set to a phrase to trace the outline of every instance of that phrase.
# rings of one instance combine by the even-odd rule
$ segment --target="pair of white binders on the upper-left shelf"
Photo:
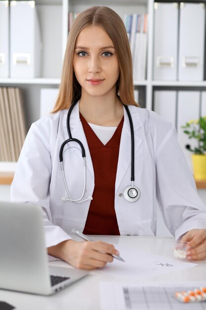
[[[0,77],[40,77],[41,48],[35,1],[0,0]]]

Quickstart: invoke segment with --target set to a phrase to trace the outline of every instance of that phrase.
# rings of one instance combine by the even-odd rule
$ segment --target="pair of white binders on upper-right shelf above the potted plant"
[[[204,80],[205,4],[154,5],[154,79]]]

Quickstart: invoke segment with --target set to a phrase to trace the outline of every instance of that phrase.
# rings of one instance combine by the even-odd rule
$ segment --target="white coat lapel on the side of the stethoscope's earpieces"
[[[64,124],[65,124],[64,126],[66,126],[66,119],[64,120]],[[91,155],[90,155],[86,137],[83,131],[82,122],[80,120],[79,102],[76,103],[70,116],[70,130],[71,130],[72,138],[78,139],[80,140],[80,142],[82,142],[82,145],[85,149],[86,166],[88,170],[90,171],[92,177],[94,178],[94,169],[92,165]],[[71,145],[75,147],[75,151],[77,152],[77,155],[82,158],[82,151],[81,151],[80,146],[75,142],[74,144],[73,142],[71,142],[70,146]]]

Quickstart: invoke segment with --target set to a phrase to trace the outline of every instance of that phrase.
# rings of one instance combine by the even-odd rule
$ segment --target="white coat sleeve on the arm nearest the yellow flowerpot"
[[[178,239],[188,230],[206,229],[206,207],[171,125],[156,155],[157,200],[165,224]]]

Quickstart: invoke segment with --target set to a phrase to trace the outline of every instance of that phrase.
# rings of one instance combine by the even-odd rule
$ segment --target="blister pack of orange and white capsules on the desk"
[[[206,301],[206,287],[200,287],[193,291],[176,292],[174,297],[182,303],[194,303]]]

